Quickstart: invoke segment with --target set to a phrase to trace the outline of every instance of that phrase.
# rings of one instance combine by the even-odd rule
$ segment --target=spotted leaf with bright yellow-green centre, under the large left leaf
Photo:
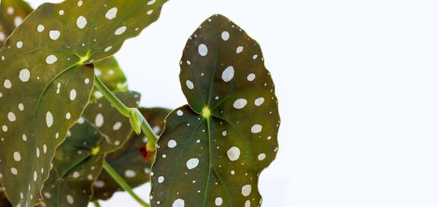
[[[135,92],[115,95],[129,107],[137,107],[140,101],[140,94]],[[43,203],[46,206],[86,206],[105,156],[121,148],[132,133],[128,118],[107,99],[90,103],[56,150],[53,169],[43,188]]]

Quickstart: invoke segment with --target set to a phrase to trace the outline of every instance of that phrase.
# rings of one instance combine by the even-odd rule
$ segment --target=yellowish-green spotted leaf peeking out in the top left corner
[[[34,9],[22,0],[0,1],[0,48],[6,38],[32,11]]]

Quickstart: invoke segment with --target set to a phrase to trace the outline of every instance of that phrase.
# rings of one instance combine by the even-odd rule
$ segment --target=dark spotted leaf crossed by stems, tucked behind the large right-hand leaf
[[[145,119],[154,129],[157,135],[162,133],[165,123],[165,117],[170,112],[169,109],[163,108],[140,108]],[[144,162],[142,154],[140,154],[140,147],[146,145],[147,138],[142,133],[136,135],[132,133],[128,142],[121,149],[116,152],[107,154],[105,160],[114,168],[114,170],[122,176],[130,187],[134,188],[149,181],[149,172],[152,161]],[[97,178],[93,186],[93,200],[109,199],[114,192],[122,190],[119,184],[107,173],[102,173]]]

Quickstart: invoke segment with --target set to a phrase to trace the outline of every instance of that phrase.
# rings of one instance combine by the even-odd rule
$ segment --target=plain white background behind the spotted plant
[[[221,13],[259,42],[276,84],[280,149],[260,176],[263,206],[437,207],[438,8],[422,0],[171,0],[116,58],[141,105],[184,105],[182,49]],[[136,192],[148,198],[147,187]],[[101,204],[137,206],[126,194]]]

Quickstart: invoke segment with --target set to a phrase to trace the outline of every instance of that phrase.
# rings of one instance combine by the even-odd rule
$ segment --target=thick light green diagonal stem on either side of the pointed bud
[[[116,107],[119,112],[121,112],[121,114],[123,114],[123,116],[130,117],[131,109],[126,107],[126,105],[124,105],[123,102],[121,102],[121,100],[119,100],[119,98],[117,98],[116,95],[114,95],[97,76],[95,76],[95,87],[102,93],[102,95],[104,95],[105,98],[107,98],[107,100],[109,100],[109,102],[112,103],[112,105],[114,105],[114,107]],[[157,135],[154,133],[148,121],[144,119],[143,116],[142,120],[143,121],[140,128],[142,129],[144,135],[148,138],[148,142],[154,144],[149,145],[149,147],[153,146],[155,151],[155,145],[158,140]]]

